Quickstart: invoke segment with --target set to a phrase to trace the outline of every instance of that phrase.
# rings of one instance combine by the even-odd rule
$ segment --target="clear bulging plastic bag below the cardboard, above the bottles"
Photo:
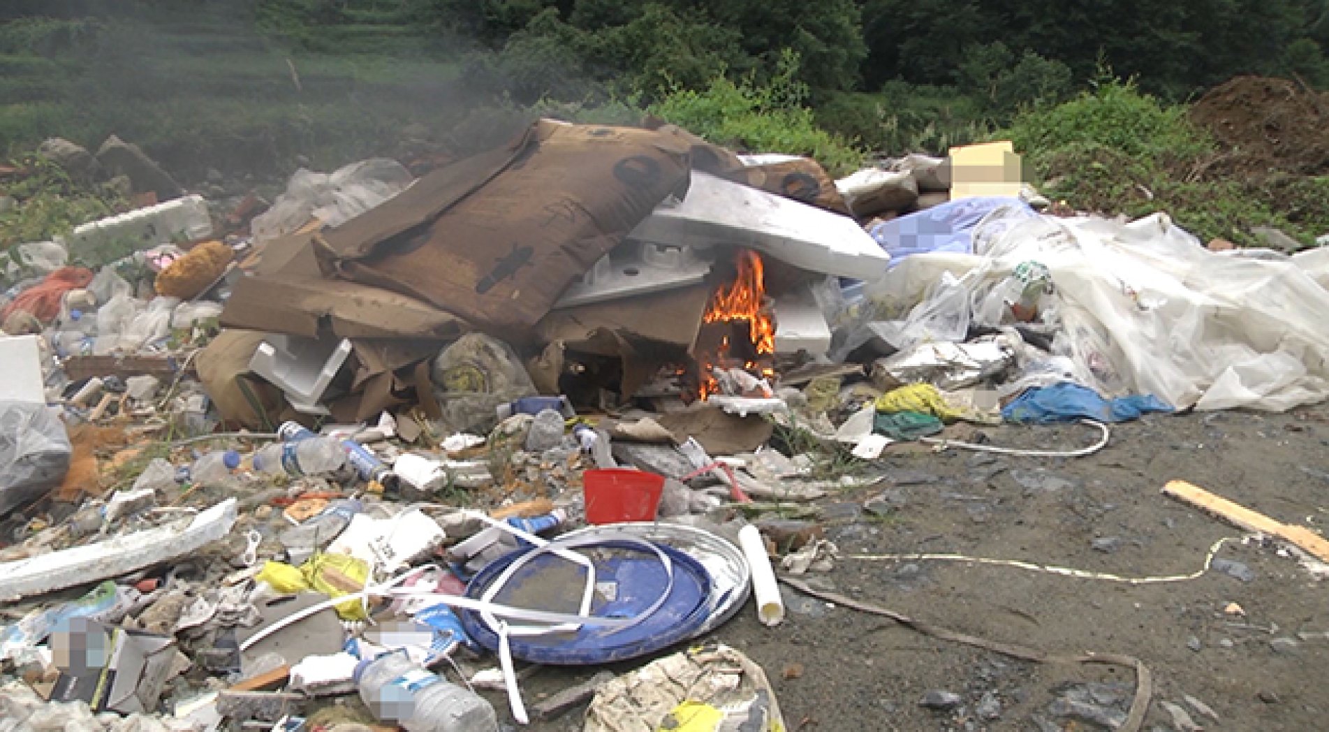
[[[466,333],[444,348],[429,376],[453,432],[486,433],[498,424],[500,404],[536,393],[512,347],[484,333]]]

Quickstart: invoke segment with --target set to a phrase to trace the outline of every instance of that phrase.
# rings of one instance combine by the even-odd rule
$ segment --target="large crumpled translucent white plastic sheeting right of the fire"
[[[974,232],[974,251],[905,258],[864,286],[868,310],[926,308],[922,300],[949,272],[969,292],[969,316],[1017,266],[1039,262],[1055,286],[1041,314],[1059,325],[1054,353],[1103,396],[1275,412],[1329,396],[1326,250],[1211,252],[1154,214],[1130,223],[989,219]],[[953,280],[945,282],[953,302]]]

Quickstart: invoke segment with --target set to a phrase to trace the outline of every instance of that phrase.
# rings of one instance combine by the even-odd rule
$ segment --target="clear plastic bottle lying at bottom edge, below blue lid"
[[[354,679],[373,716],[407,732],[498,729],[498,715],[489,701],[427,671],[404,654],[361,660]]]

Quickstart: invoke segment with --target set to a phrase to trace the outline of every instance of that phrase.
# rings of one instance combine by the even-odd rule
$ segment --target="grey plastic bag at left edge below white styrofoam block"
[[[45,404],[0,401],[0,517],[60,485],[72,448]]]

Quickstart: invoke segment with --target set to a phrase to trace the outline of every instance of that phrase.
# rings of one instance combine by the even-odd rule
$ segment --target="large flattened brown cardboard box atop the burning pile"
[[[690,150],[674,129],[541,120],[316,236],[315,255],[324,274],[526,329],[661,201],[686,195]]]

